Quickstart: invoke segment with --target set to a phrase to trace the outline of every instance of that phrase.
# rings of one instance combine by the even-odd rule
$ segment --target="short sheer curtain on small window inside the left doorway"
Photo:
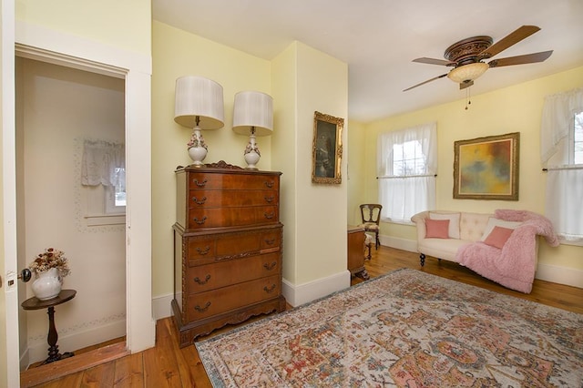
[[[126,186],[126,148],[105,140],[85,140],[81,165],[84,186]]]

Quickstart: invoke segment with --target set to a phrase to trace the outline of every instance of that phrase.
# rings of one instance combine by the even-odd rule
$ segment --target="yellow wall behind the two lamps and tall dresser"
[[[225,126],[203,131],[209,146],[205,162],[246,166],[243,151],[249,137],[232,131],[235,94],[257,90],[271,95],[271,64],[256,56],[214,43],[186,31],[154,21],[152,70],[152,294],[172,291],[172,225],[176,221],[174,169],[192,163],[187,152],[191,128],[174,122],[176,78],[201,76],[223,87]],[[277,99],[274,111],[280,109]],[[277,123],[276,123],[277,124]],[[277,133],[275,125],[273,132]],[[261,149],[258,168],[271,169],[271,137],[257,138]]]

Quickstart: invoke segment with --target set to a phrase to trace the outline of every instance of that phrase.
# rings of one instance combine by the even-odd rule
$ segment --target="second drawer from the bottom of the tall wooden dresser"
[[[186,290],[189,293],[210,291],[276,275],[280,271],[280,252],[193,266],[187,268]]]

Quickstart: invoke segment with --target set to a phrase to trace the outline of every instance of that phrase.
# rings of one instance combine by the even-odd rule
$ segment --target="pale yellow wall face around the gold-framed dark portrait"
[[[295,283],[303,284],[346,271],[346,158],[342,159],[342,184],[314,184],[312,143],[314,111],[344,119],[348,115],[348,66],[301,43],[295,59],[298,127],[293,192],[298,228],[293,260],[297,266]],[[283,276],[287,279],[288,275]]]

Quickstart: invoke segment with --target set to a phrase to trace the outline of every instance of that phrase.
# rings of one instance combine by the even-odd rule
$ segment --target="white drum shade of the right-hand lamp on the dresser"
[[[256,136],[271,135],[273,130],[273,98],[261,92],[239,92],[233,107],[233,131],[249,135],[251,127]]]

